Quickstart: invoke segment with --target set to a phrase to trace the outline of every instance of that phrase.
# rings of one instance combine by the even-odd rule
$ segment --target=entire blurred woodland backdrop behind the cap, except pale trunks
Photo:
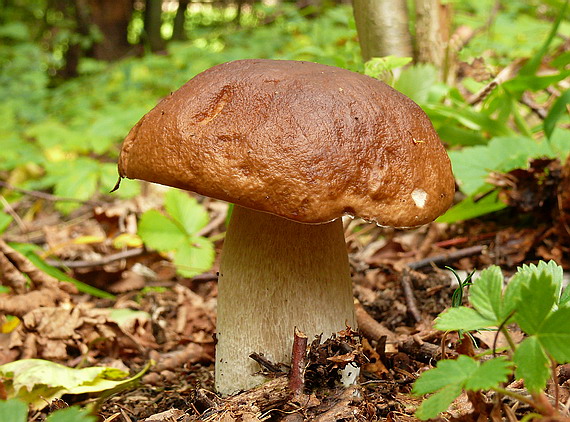
[[[122,139],[161,97],[218,63],[292,59],[366,72],[424,108],[464,198],[443,220],[501,209],[487,194],[491,171],[570,150],[567,2],[433,2],[444,16],[439,62],[422,57],[420,3],[402,3],[410,59],[365,63],[350,1],[1,0],[0,181],[79,200],[106,195]],[[129,181],[117,194],[139,189]],[[20,197],[1,193],[4,204]],[[11,221],[0,214],[0,232]]]

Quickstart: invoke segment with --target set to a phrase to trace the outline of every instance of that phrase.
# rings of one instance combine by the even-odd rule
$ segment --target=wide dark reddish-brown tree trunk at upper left
[[[84,1],[77,4],[79,8]],[[127,40],[133,0],[88,0],[91,23],[97,25],[103,39],[94,44],[90,56],[99,60],[117,60],[133,48]],[[78,13],[79,14],[79,13]]]

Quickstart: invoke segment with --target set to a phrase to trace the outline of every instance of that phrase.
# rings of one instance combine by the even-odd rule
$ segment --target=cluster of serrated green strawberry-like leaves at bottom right
[[[435,393],[418,409],[420,419],[447,409],[462,390],[500,387],[514,368],[531,393],[542,391],[551,362],[570,362],[570,306],[563,292],[562,268],[554,261],[524,265],[507,286],[497,266],[483,270],[469,291],[470,307],[453,307],[436,319],[439,330],[500,329],[510,339],[506,325],[516,323],[526,334],[517,346],[510,340],[512,357],[499,356],[480,363],[467,356],[443,360],[416,381],[417,395]]]

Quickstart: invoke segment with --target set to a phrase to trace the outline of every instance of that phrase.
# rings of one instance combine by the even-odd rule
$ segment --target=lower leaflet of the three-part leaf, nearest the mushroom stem
[[[209,239],[193,237],[177,249],[174,264],[180,275],[191,278],[212,268],[215,255],[214,244]]]

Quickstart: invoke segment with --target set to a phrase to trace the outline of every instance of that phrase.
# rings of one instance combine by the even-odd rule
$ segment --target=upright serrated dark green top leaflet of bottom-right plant
[[[532,335],[541,331],[556,301],[556,290],[552,275],[543,271],[532,271],[528,282],[521,286],[515,320],[525,333]]]

